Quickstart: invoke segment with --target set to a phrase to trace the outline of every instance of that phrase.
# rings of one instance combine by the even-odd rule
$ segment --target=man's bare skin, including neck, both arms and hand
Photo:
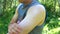
[[[20,2],[27,5],[31,3],[32,0],[20,0]],[[27,11],[27,15],[19,24],[17,24],[17,18],[18,10],[16,9],[10,25],[8,26],[8,34],[28,34],[36,26],[43,24],[45,19],[45,8],[42,5],[30,7]]]

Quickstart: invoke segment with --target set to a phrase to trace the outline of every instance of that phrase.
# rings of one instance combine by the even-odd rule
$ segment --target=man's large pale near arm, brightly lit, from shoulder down
[[[31,32],[41,20],[45,19],[45,8],[42,5],[36,5],[29,8],[26,17],[19,23],[22,31],[20,34]]]

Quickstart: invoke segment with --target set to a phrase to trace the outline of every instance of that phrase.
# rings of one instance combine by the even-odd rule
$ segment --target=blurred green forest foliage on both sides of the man
[[[39,0],[46,8],[47,18],[43,34],[60,34],[60,0]],[[18,0],[0,0],[0,34],[6,34]]]

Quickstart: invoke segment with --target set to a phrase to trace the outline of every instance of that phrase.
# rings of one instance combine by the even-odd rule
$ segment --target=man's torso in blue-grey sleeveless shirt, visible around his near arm
[[[27,6],[21,4],[21,6],[19,6],[18,8],[18,21],[22,21],[25,18],[28,9],[34,5],[40,5],[40,4],[37,1],[33,1],[31,4]],[[44,24],[36,26],[29,34],[42,34],[43,26]]]

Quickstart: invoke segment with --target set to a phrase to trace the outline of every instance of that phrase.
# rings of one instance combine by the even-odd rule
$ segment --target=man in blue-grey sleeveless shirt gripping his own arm
[[[8,34],[42,34],[45,8],[37,0],[19,0]]]

